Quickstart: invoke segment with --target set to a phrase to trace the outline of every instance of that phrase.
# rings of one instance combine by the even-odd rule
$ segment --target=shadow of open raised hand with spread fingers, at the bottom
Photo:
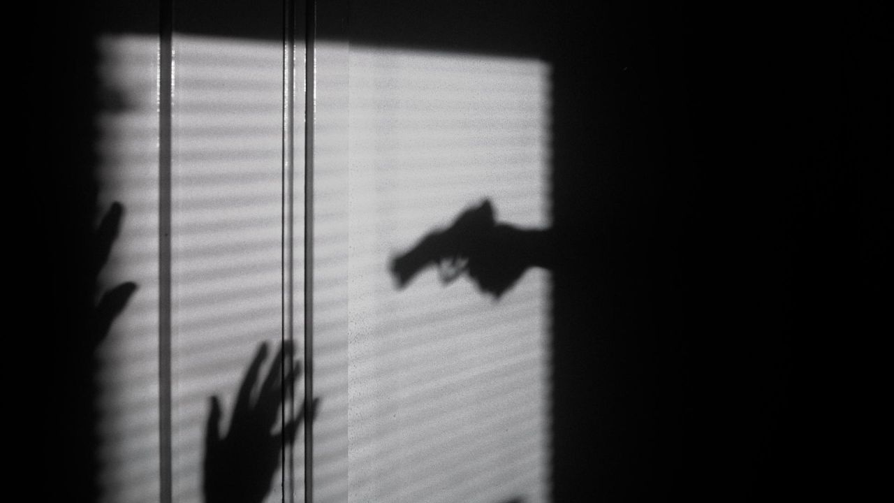
[[[225,435],[220,431],[220,401],[217,396],[211,396],[203,466],[206,503],[259,503],[270,492],[282,449],[294,441],[308,413],[302,405],[299,413],[283,424],[280,431],[273,431],[283,406],[283,384],[296,381],[301,373],[298,362],[283,372],[283,354],[291,355],[291,345],[280,346],[258,388],[258,374],[266,359],[267,345],[263,343],[257,348],[242,379]],[[311,419],[318,405],[319,399],[315,398],[310,405]]]

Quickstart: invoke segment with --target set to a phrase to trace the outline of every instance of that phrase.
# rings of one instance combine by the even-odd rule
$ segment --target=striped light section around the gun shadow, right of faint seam
[[[532,59],[351,47],[350,501],[548,498],[546,274],[494,301],[387,268],[485,198],[550,225],[549,81]]]

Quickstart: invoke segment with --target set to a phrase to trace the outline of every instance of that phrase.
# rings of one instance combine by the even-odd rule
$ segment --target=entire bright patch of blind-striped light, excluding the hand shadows
[[[190,502],[201,500],[208,397],[222,398],[225,431],[258,343],[282,334],[283,46],[173,42],[173,499]],[[123,104],[97,115],[101,202],[125,207],[103,281],[139,285],[99,352],[100,485],[105,501],[154,502],[158,42],[119,36],[99,48],[105,87]],[[315,500],[546,500],[546,273],[528,271],[494,301],[468,279],[443,286],[434,271],[397,290],[387,265],[485,198],[502,221],[550,225],[548,65],[325,42],[317,54],[338,63],[321,58],[316,73]],[[300,160],[303,129],[293,134]],[[300,340],[300,168],[295,183]],[[294,457],[301,488],[300,442]],[[268,500],[281,498],[274,483]]]

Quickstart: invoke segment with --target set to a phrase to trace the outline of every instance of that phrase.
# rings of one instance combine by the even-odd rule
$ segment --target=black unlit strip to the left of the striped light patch
[[[21,7],[8,66],[23,83],[9,97],[17,140],[7,194],[19,231],[5,365],[17,448],[10,479],[29,499],[94,501],[97,223],[108,210],[97,206],[97,112],[121,105],[100,87],[97,34],[123,20],[157,33],[158,3]]]

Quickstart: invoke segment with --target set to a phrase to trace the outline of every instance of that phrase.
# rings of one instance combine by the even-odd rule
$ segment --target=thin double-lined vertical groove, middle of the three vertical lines
[[[283,0],[283,408],[282,423],[295,418],[295,384],[287,379],[294,362],[294,181],[295,181],[295,2]],[[287,410],[288,409],[288,410]],[[283,435],[283,503],[295,499],[294,450]]]

